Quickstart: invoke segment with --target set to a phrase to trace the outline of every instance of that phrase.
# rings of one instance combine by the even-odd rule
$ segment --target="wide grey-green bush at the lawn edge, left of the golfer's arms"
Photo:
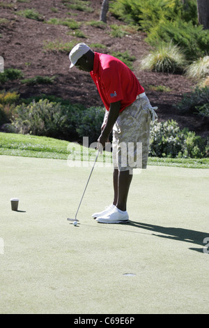
[[[17,133],[42,135],[64,140],[96,141],[104,118],[100,107],[84,108],[82,105],[61,105],[40,99],[15,108],[13,127]]]

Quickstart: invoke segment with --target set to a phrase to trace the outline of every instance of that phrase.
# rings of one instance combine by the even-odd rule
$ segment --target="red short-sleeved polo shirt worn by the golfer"
[[[108,111],[111,103],[121,100],[120,112],[123,112],[125,107],[136,100],[138,94],[144,92],[130,68],[109,54],[95,52],[90,74]]]

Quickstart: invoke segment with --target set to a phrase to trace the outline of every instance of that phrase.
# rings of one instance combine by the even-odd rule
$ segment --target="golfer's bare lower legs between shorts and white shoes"
[[[114,205],[121,211],[126,211],[127,195],[132,181],[129,170],[118,171],[114,169]]]

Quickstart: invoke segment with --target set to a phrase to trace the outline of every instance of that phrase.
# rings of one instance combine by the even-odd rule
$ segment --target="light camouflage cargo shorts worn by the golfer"
[[[147,98],[147,97],[146,97]],[[147,98],[148,100],[148,98]],[[113,128],[113,163],[119,171],[146,169],[150,140],[150,110],[143,110],[141,98],[119,114]]]

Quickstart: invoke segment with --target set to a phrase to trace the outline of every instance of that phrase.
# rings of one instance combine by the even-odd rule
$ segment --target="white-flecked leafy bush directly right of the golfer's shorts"
[[[150,129],[150,156],[206,157],[206,140],[188,129],[180,130],[176,121],[155,121]]]

